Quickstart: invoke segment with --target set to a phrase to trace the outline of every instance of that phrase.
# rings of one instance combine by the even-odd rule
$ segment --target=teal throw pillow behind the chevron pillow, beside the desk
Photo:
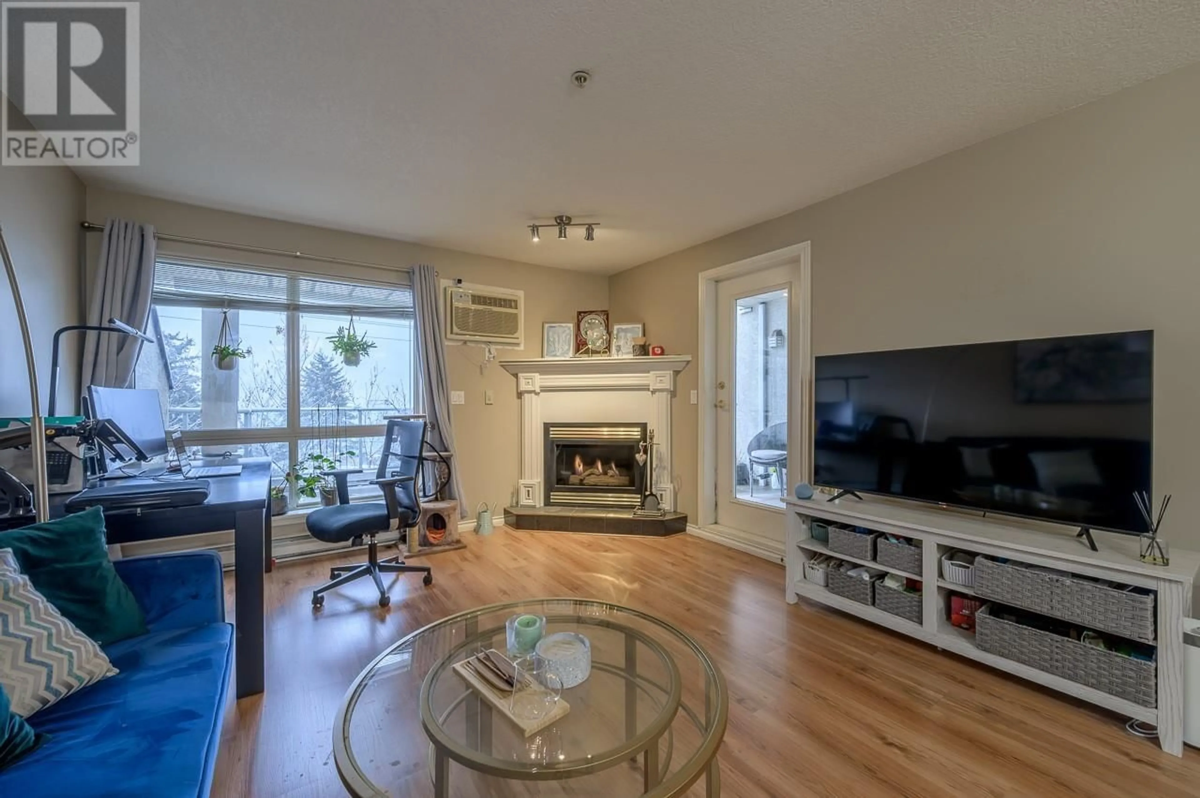
[[[0,532],[0,549],[12,549],[34,588],[100,645],[146,634],[142,607],[108,560],[98,507]]]

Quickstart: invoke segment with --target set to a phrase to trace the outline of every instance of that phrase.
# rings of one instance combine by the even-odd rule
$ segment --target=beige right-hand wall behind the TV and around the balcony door
[[[1200,65],[612,277],[613,318],[695,353],[697,273],[812,242],[816,355],[1153,328],[1154,490],[1200,549]],[[696,407],[674,412],[696,514]]]

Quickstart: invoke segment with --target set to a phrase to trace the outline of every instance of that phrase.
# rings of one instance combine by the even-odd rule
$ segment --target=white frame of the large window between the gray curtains
[[[300,442],[305,440],[317,440],[320,437],[320,433],[328,433],[328,428],[302,425],[300,423],[301,406],[300,406],[300,352],[301,352],[301,339],[300,339],[300,316],[304,313],[312,314],[324,314],[328,315],[334,312],[332,308],[319,306],[319,304],[301,304],[298,301],[298,285],[299,280],[323,280],[328,283],[337,284],[360,284],[360,285],[373,285],[386,289],[397,289],[412,285],[412,270],[397,270],[398,274],[407,273],[409,280],[407,283],[385,283],[379,280],[365,280],[356,278],[332,278],[326,274],[319,273],[302,273],[302,272],[289,272],[283,270],[272,270],[264,267],[238,267],[232,264],[220,262],[220,261],[203,261],[193,259],[180,259],[163,255],[162,260],[169,260],[172,262],[190,262],[196,266],[204,268],[216,268],[226,271],[265,271],[274,274],[286,277],[288,279],[288,294],[289,302],[286,309],[287,327],[286,327],[286,350],[287,350],[287,425],[286,427],[272,427],[272,428],[239,428],[239,429],[196,429],[196,430],[181,430],[184,443],[190,447],[199,447],[202,452],[209,457],[221,455],[224,452],[224,447],[236,447],[242,445],[252,443],[287,443],[288,446],[288,463],[280,464],[284,470],[290,468],[292,464],[296,463],[300,458]],[[218,297],[214,297],[218,300]],[[181,298],[162,298],[160,300],[157,295],[151,296],[151,306],[154,307],[176,307],[176,308],[205,308],[214,307],[211,302],[188,302]],[[228,308],[229,310],[258,310],[263,309],[263,304],[254,303],[252,301],[238,301],[228,300],[221,302],[220,307]],[[364,308],[361,310],[354,310],[355,319],[371,319],[372,308]],[[413,308],[413,357],[410,362],[410,374],[409,385],[412,386],[412,410],[413,413],[422,412],[421,407],[424,405],[424,395],[421,386],[421,368],[420,368],[420,356],[418,349],[418,322],[416,322],[416,308],[414,303]],[[202,352],[202,363],[208,363],[209,359],[204,352]],[[202,365],[202,369],[205,365]],[[202,371],[203,374],[203,371]],[[346,425],[342,429],[350,434],[353,437],[383,437],[386,433],[388,425],[384,424],[362,424],[362,425]],[[277,483],[280,479],[272,477],[272,482]],[[298,498],[295,490],[289,486],[289,497],[292,500],[292,506],[298,506]]]

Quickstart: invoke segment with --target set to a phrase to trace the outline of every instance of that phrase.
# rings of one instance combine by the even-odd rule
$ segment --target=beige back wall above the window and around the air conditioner
[[[605,307],[608,298],[608,282],[605,277],[89,188],[88,219],[103,223],[110,216],[154,224],[162,232],[179,236],[300,250],[395,265],[397,268],[421,262],[432,264],[444,279],[462,278],[468,283],[521,289],[526,296],[526,349],[497,350],[500,359],[541,357],[542,322],[571,321],[575,310]],[[92,238],[95,241],[89,241],[89,244],[95,252],[98,237],[94,234]],[[163,242],[160,250],[376,280],[388,274],[376,270],[275,259],[234,250],[190,248],[169,242]],[[91,262],[95,262],[95,258]],[[452,409],[458,448],[456,460],[467,500],[473,508],[481,501],[503,507],[509,503],[517,482],[520,416],[516,380],[494,363],[481,373],[484,350],[478,346],[448,346],[446,355],[450,362],[450,387],[463,391],[467,399],[466,405]],[[494,392],[494,405],[484,404],[484,392],[487,389]]]

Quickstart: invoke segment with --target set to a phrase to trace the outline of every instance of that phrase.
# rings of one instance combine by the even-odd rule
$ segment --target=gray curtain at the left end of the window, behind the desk
[[[89,325],[118,319],[145,332],[154,292],[154,228],[109,219],[91,285],[88,286]],[[89,332],[83,341],[80,386],[128,387],[142,341],[119,333]]]

